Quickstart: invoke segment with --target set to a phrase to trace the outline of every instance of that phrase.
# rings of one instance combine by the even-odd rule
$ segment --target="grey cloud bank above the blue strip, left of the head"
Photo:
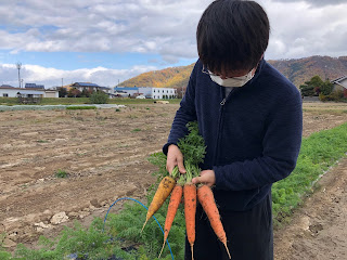
[[[138,52],[168,56],[170,47],[195,41],[197,21],[208,2],[8,1],[0,6],[0,37],[5,39],[0,49],[13,53]],[[11,30],[13,27],[16,29]],[[185,57],[185,48],[177,49],[175,56]]]

